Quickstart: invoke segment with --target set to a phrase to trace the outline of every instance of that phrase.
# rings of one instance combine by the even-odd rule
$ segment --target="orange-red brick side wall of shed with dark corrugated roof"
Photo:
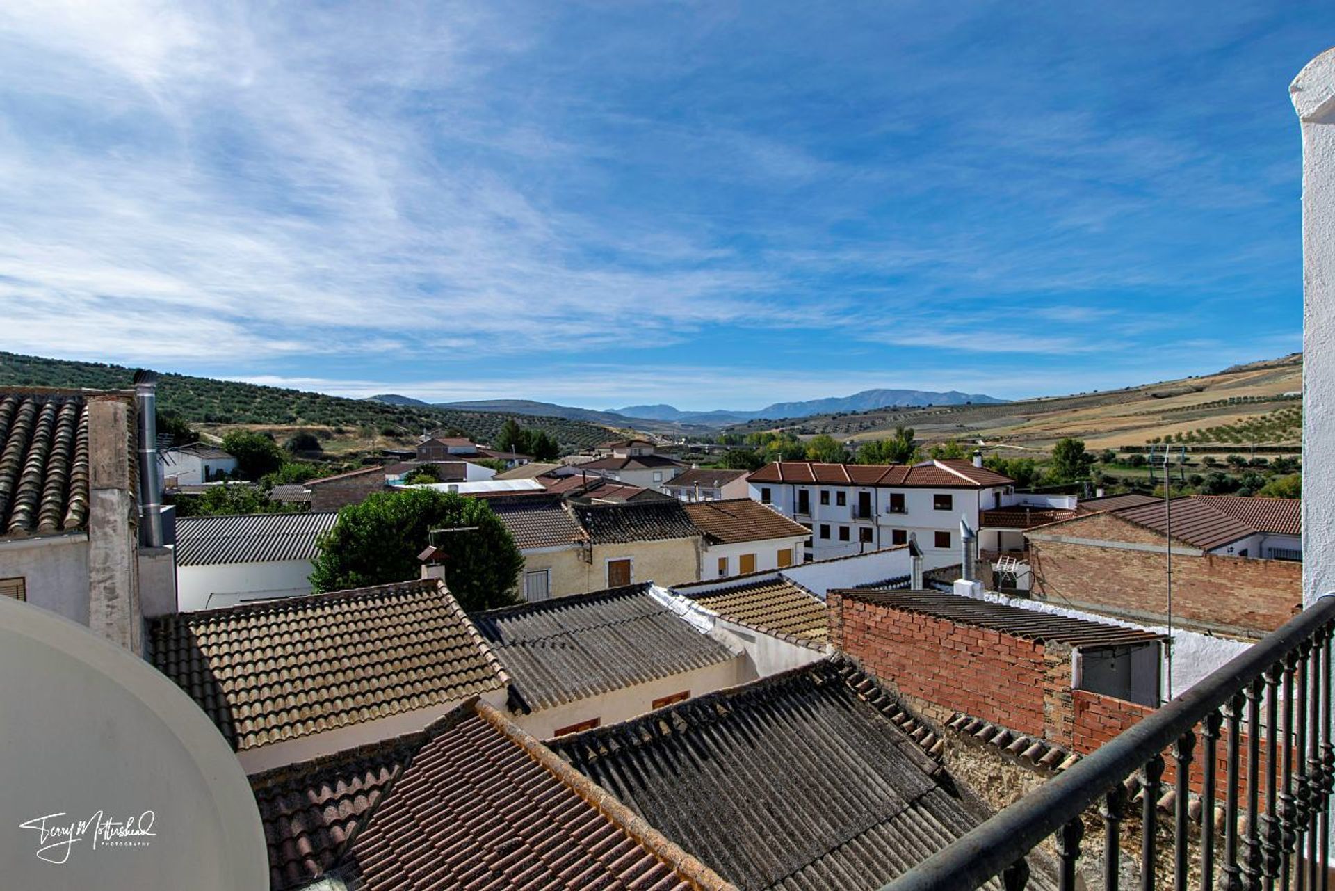
[[[1069,745],[1071,649],[829,594],[830,640],[937,720],[953,712]]]

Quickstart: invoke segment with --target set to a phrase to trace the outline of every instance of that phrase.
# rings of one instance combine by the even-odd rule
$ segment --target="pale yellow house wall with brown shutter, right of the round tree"
[[[663,586],[700,581],[700,540],[668,538],[619,545],[594,545],[593,562],[579,548],[523,552],[525,572],[551,572],[551,596],[569,597],[607,586],[607,561],[630,557],[630,581],[654,581]],[[773,554],[772,554],[773,557]],[[523,581],[521,580],[521,585]],[[521,588],[522,590],[522,588]]]

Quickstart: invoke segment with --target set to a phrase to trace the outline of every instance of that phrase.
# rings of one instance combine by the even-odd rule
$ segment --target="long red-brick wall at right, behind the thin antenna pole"
[[[1111,516],[1044,529],[1101,541],[1156,544],[1163,538]],[[1053,541],[1029,541],[1033,593],[1057,602],[1104,606],[1115,613],[1165,616],[1164,556]],[[1207,628],[1271,632],[1303,600],[1303,566],[1287,560],[1173,554],[1173,614]]]

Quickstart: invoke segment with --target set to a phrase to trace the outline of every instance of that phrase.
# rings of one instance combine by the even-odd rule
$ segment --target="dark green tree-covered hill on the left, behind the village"
[[[117,389],[129,386],[132,369],[0,353],[0,386]],[[413,437],[451,427],[475,442],[491,442],[506,418],[519,413],[455,411],[418,405],[388,405],[323,393],[259,386],[238,381],[166,373],[158,386],[163,410],[204,426],[371,427],[384,435]],[[609,427],[554,417],[518,417],[549,431],[563,446],[587,448],[609,438]]]

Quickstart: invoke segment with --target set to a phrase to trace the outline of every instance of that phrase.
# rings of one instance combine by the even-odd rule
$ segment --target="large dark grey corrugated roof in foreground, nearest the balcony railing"
[[[740,888],[858,890],[988,816],[901,724],[822,660],[547,745]],[[1029,887],[1052,887],[1033,867]]]

